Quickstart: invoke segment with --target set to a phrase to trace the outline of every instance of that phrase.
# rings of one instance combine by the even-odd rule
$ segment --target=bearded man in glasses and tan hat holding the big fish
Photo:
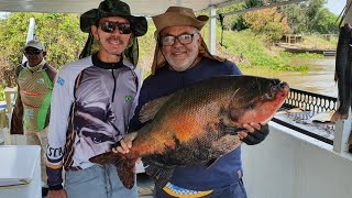
[[[241,75],[233,63],[209,53],[200,35],[208,16],[196,18],[191,9],[170,7],[165,13],[153,16],[153,21],[157,44],[152,75],[143,82],[139,106],[129,127],[131,133],[120,141],[121,146],[113,150],[114,152],[127,153],[133,146],[133,131],[142,128],[139,117],[146,102],[202,79],[220,75]],[[240,136],[250,145],[262,142],[268,134],[267,124],[249,123],[243,128],[245,130],[240,132]],[[238,147],[220,157],[209,168],[202,164],[177,167],[164,188],[155,187],[154,197],[244,198],[246,193],[242,175],[241,147]]]

